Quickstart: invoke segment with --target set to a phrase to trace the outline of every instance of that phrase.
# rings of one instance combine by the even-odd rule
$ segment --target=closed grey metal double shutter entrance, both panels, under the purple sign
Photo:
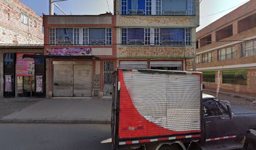
[[[92,62],[53,62],[53,96],[92,96]]]

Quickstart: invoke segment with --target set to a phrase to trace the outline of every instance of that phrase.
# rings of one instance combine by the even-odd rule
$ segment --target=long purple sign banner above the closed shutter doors
[[[50,56],[91,56],[92,48],[50,48],[46,49]]]

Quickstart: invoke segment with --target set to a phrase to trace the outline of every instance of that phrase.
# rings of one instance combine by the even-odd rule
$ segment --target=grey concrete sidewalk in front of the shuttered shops
[[[0,123],[110,124],[110,99],[45,99],[0,119]]]

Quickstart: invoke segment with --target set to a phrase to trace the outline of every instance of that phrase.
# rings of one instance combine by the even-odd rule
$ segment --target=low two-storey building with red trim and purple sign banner
[[[112,94],[116,28],[112,14],[43,16],[46,96]]]

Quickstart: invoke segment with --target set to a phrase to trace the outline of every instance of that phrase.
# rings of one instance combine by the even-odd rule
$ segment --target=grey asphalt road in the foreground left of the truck
[[[4,150],[110,150],[110,125],[104,124],[0,124]]]

